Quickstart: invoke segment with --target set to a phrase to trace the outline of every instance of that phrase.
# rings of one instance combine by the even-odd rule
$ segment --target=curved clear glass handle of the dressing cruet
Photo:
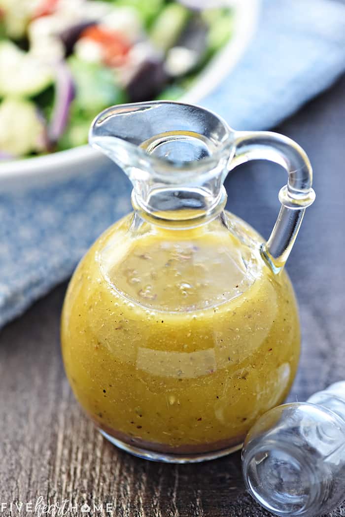
[[[311,188],[312,168],[305,151],[296,142],[271,131],[236,131],[235,152],[230,170],[249,160],[268,160],[281,165],[288,173],[288,183],[279,192],[281,208],[269,239],[261,253],[274,272],[288,260],[301,226],[305,209],[315,193]]]

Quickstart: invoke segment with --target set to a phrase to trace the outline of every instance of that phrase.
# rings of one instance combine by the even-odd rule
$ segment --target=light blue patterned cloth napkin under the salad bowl
[[[250,47],[202,104],[236,129],[266,129],[343,70],[343,3],[264,0]],[[68,278],[95,238],[130,210],[130,190],[125,175],[109,167],[25,193],[0,193],[0,326]]]

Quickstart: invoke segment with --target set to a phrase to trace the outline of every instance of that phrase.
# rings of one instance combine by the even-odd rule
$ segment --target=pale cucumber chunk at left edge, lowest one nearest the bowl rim
[[[0,103],[0,149],[13,156],[44,149],[44,126],[33,102],[8,98]]]

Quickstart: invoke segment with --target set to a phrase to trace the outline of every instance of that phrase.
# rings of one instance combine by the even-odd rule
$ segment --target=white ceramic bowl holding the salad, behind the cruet
[[[198,103],[234,68],[246,49],[258,18],[260,0],[229,0],[235,4],[234,33],[229,43],[208,63],[196,83],[179,99]],[[43,186],[79,174],[90,174],[108,158],[88,145],[50,155],[0,164],[0,191]]]

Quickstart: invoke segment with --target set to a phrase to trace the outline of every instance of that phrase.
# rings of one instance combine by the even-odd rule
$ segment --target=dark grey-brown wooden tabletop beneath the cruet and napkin
[[[307,210],[288,270],[301,309],[303,353],[290,399],[345,378],[345,78],[277,128],[297,140],[313,164],[317,201]],[[252,163],[227,180],[230,210],[267,236],[284,173]],[[239,453],[199,465],[131,457],[109,444],[74,401],[59,349],[66,284],[0,333],[0,517],[10,503],[76,505],[68,515],[259,517],[245,492]],[[345,494],[344,494],[345,496]],[[1,507],[3,504],[3,510]],[[28,507],[30,508],[30,507]],[[26,513],[25,513],[26,511]],[[345,505],[332,515],[345,515]]]

